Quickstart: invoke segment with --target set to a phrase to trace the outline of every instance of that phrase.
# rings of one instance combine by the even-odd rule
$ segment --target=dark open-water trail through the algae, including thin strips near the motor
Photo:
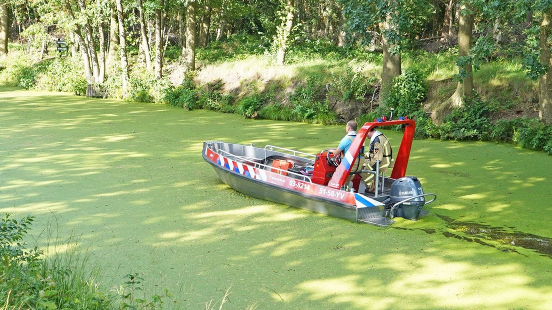
[[[509,247],[513,246],[535,250],[540,255],[552,258],[552,238],[514,231],[513,229],[508,229],[507,227],[495,227],[476,222],[457,221],[443,215],[436,216],[445,221],[446,228],[449,230],[442,231],[433,228],[418,229],[427,234],[442,234],[447,238],[456,238],[468,242],[475,242],[485,245],[486,247],[497,248],[503,252],[514,252],[521,254],[517,250]],[[408,229],[401,227],[395,228]],[[496,243],[506,245],[506,247],[497,246]]]

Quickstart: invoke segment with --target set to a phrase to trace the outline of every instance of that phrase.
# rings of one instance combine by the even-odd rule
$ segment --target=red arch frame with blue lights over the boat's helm
[[[392,121],[383,121],[383,122],[367,122],[362,126],[362,128],[357,132],[357,137],[354,138],[351,147],[347,153],[351,153],[353,161],[349,168],[346,167],[346,160],[343,158],[343,161],[337,167],[336,172],[333,174],[332,179],[328,183],[329,188],[341,189],[345,184],[349,173],[351,173],[352,167],[354,167],[354,162],[358,157],[360,148],[364,145],[364,140],[366,140],[368,132],[373,127],[383,127],[383,126],[394,126],[394,125],[405,125],[405,132],[402,135],[401,145],[399,147],[399,152],[395,158],[395,165],[391,173],[392,179],[399,179],[406,175],[406,166],[408,165],[408,158],[410,157],[410,149],[412,148],[412,140],[414,139],[414,131],[416,130],[416,123],[413,120],[392,120]],[[368,146],[367,146],[368,147]]]

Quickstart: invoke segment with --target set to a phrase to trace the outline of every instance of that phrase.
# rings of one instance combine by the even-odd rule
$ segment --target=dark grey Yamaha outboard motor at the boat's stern
[[[423,195],[422,184],[416,177],[404,177],[391,184],[390,203],[395,205],[410,197]],[[394,210],[394,216],[404,217],[416,221],[423,205],[426,204],[424,196],[403,202]]]

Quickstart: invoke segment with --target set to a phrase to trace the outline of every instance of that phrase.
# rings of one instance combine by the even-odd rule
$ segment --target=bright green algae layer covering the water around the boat
[[[0,88],[0,212],[36,216],[35,237],[55,222],[104,266],[105,286],[142,272],[146,295],[167,288],[174,308],[228,288],[228,309],[552,308],[544,153],[415,141],[408,174],[438,200],[386,229],[252,199],[201,158],[206,140],[314,153],[343,134]]]

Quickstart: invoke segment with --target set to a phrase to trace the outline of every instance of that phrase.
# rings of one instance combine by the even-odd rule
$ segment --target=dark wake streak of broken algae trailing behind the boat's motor
[[[474,237],[473,242],[477,242],[482,245],[489,246],[484,240],[490,240],[498,242],[500,244],[522,247],[525,249],[535,250],[537,253],[552,258],[552,239],[534,234],[523,233],[519,231],[509,231],[505,227],[489,226],[475,222],[462,222],[455,221],[450,217],[437,215],[439,218],[447,222],[447,227],[466,234],[470,237]],[[448,232],[447,232],[448,233]],[[452,234],[452,233],[448,233]],[[443,233],[446,237],[447,236]],[[508,249],[508,252],[517,252],[516,250]]]

